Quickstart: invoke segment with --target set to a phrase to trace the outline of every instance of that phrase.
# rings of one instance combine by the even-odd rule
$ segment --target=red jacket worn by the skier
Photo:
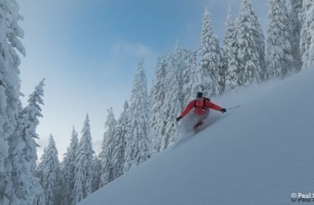
[[[190,110],[192,110],[192,108],[194,108],[194,113],[196,113],[198,115],[203,115],[204,113],[206,113],[209,110],[209,108],[221,111],[220,106],[217,106],[216,104],[213,104],[211,101],[208,101],[208,100],[206,101],[205,109],[204,109],[203,108],[204,98],[201,101],[196,101],[196,105],[195,105],[195,100],[196,99],[194,99],[193,101],[190,101],[188,106],[186,106],[184,111],[181,113],[180,117],[186,116],[186,114],[188,114],[188,112],[190,112]],[[194,105],[195,105],[195,107],[194,107]]]

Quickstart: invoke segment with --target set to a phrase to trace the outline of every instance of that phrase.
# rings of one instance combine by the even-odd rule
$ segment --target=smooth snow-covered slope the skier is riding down
[[[207,129],[150,158],[84,204],[295,204],[314,192],[314,69],[213,100]],[[212,123],[214,122],[214,123]]]

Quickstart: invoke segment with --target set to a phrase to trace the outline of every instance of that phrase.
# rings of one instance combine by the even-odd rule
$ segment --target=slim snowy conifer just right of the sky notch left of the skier
[[[151,147],[153,154],[160,151],[160,139],[165,135],[165,110],[161,109],[165,104],[165,76],[167,72],[167,60],[165,56],[160,56],[155,67],[154,82],[151,85],[149,95],[149,105],[151,107]]]

